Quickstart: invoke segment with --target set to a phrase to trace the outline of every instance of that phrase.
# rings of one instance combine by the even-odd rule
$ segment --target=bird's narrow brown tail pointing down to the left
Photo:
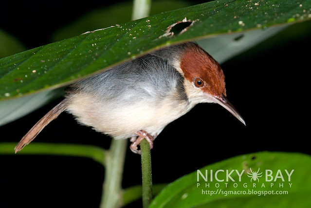
[[[45,116],[43,116],[30,130],[29,132],[18,142],[15,147],[15,153],[23,149],[24,146],[34,140],[42,129],[47,126],[51,121],[56,119],[61,112],[63,112],[68,105],[67,99],[57,104],[52,110],[50,110]]]

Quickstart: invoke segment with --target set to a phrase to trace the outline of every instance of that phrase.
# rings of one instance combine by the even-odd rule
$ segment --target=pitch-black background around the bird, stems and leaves
[[[198,1],[199,3],[199,1]],[[49,34],[104,1],[1,1],[0,28],[28,48],[49,43]],[[310,26],[310,24],[309,24]],[[227,97],[247,126],[217,104],[198,104],[170,123],[154,143],[153,183],[168,183],[207,164],[257,151],[310,154],[310,27],[304,34],[270,38],[222,64]],[[276,41],[282,39],[282,41]],[[18,142],[61,99],[0,127],[1,141]],[[309,139],[307,139],[309,138]],[[35,142],[92,144],[110,138],[61,114]],[[13,150],[12,150],[13,151]],[[123,187],[141,184],[140,156],[127,152]],[[104,168],[86,158],[0,156],[0,207],[83,207],[100,203]],[[136,202],[128,207],[140,207]]]

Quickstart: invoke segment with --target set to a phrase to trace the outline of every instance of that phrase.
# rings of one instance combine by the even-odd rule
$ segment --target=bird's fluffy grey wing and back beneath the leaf
[[[137,99],[161,99],[172,88],[183,90],[182,85],[183,76],[167,60],[147,54],[78,81],[73,87],[106,102],[122,99],[130,104]]]

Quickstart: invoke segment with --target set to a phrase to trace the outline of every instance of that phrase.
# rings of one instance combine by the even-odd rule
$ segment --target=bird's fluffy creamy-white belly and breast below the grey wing
[[[138,97],[137,101],[127,105],[115,105],[99,100],[94,102],[90,95],[78,93],[70,98],[67,111],[73,114],[78,122],[115,139],[133,137],[138,130],[156,136],[168,123],[191,109],[186,101],[172,100],[174,93],[159,103],[152,98]]]

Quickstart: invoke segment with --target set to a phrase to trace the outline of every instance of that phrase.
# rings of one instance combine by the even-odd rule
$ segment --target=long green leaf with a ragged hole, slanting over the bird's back
[[[66,86],[169,44],[309,19],[310,8],[311,0],[219,0],[75,36],[0,59],[0,99]],[[185,32],[165,32],[185,17]]]

